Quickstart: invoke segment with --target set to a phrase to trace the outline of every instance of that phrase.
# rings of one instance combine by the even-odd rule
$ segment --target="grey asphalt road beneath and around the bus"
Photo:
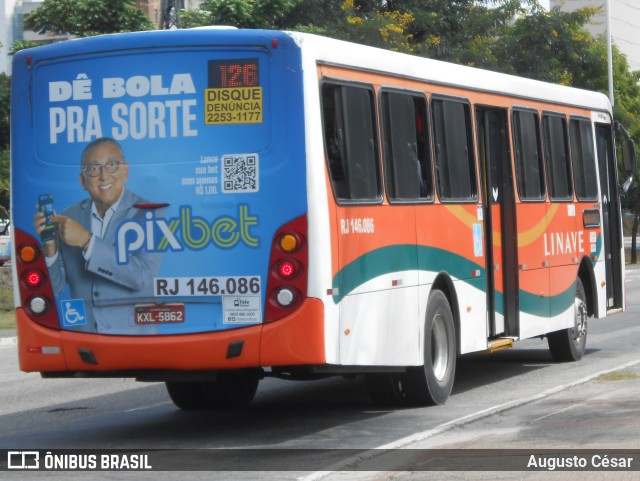
[[[445,406],[381,409],[361,378],[264,380],[246,409],[182,412],[160,384],[43,380],[21,373],[15,345],[0,341],[0,449],[351,449],[293,460],[280,472],[20,473],[0,479],[640,479],[640,472],[340,472],[375,448],[640,449],[640,270],[627,277],[628,310],[591,320],[578,363],[552,362],[546,340],[459,360]],[[6,333],[5,333],[6,336]],[[7,340],[9,339],[9,340]],[[380,451],[373,451],[378,453]],[[229,451],[233,469],[255,468]],[[354,456],[353,459],[350,456]],[[235,457],[235,458],[234,458]],[[355,460],[355,461],[354,461]],[[640,459],[636,460],[640,462]],[[285,466],[286,464],[286,466]],[[189,469],[185,466],[184,469]],[[498,466],[496,466],[498,469]],[[5,476],[3,476],[3,474]],[[11,477],[6,477],[10,474]],[[59,475],[59,477],[58,477]],[[23,477],[25,476],[25,477]],[[486,477],[481,477],[486,476]],[[596,476],[596,477],[590,477]],[[83,478],[84,479],[84,478]]]

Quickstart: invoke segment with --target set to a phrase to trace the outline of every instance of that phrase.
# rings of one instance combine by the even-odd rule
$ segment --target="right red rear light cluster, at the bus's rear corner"
[[[282,226],[273,238],[269,261],[265,322],[290,314],[307,293],[307,218]]]

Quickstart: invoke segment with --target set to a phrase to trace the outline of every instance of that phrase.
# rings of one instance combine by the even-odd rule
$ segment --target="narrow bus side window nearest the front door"
[[[576,197],[581,201],[596,200],[598,198],[598,182],[591,122],[586,119],[571,119],[569,137],[571,139],[571,163]]]

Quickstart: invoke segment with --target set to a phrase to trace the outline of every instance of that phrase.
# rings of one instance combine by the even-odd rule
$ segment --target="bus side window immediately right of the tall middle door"
[[[513,112],[513,144],[518,192],[522,200],[543,200],[545,197],[544,167],[540,150],[538,114]]]

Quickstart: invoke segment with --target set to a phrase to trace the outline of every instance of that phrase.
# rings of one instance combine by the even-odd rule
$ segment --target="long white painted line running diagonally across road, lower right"
[[[634,361],[629,361],[625,364],[621,364],[619,366],[613,367],[611,369],[606,369],[604,371],[599,371],[595,374],[590,374],[589,376],[583,377],[581,379],[578,379],[577,381],[573,381],[567,384],[562,384],[560,386],[556,386],[553,387],[551,389],[547,389],[546,391],[543,391],[539,394],[536,394],[534,396],[530,396],[530,397],[525,397],[525,398],[520,398],[520,399],[516,399],[515,401],[509,401],[503,404],[498,404],[496,406],[492,406],[489,407],[487,409],[483,409],[481,411],[472,413],[472,414],[468,414],[466,416],[462,416],[460,418],[457,419],[453,419],[451,421],[448,421],[446,423],[440,424],[439,426],[436,426],[435,428],[432,429],[427,429],[426,431],[422,431],[420,433],[415,433],[412,434],[411,436],[407,436],[404,438],[400,438],[397,439],[396,441],[393,441],[391,443],[387,443],[387,444],[383,444],[382,446],[378,446],[377,448],[372,448],[370,451],[366,451],[363,454],[357,455],[357,456],[353,456],[349,459],[346,459],[343,462],[340,462],[339,464],[336,464],[334,466],[330,466],[329,469],[327,471],[316,471],[315,473],[312,473],[308,476],[304,476],[301,478],[298,478],[300,481],[317,481],[323,478],[326,478],[327,476],[339,472],[340,468],[344,467],[344,466],[348,466],[354,463],[359,463],[362,461],[367,461],[369,459],[373,459],[376,456],[379,456],[381,454],[384,453],[385,450],[392,450],[392,449],[402,449],[402,448],[406,448],[407,446],[410,446],[411,444],[415,444],[418,443],[420,441],[425,441],[429,438],[432,438],[434,436],[437,436],[438,434],[442,434],[444,432],[447,431],[451,431],[452,429],[456,428],[456,427],[461,427],[464,426],[465,424],[470,424],[472,422],[475,421],[479,421],[480,419],[489,417],[493,414],[497,414],[500,412],[504,412],[507,411],[509,409],[514,409],[517,408],[519,406],[523,406],[525,404],[529,404],[535,401],[539,401],[540,399],[544,399],[548,396],[551,396],[552,394],[556,394],[559,393],[561,391],[564,391],[565,389],[569,389],[575,386],[578,386],[580,384],[584,384],[587,383],[599,376],[602,376],[604,374],[608,374],[610,372],[614,372],[614,371],[620,371],[622,369],[626,369],[628,367],[631,366],[635,366],[636,364],[640,364],[640,359],[636,359]]]

